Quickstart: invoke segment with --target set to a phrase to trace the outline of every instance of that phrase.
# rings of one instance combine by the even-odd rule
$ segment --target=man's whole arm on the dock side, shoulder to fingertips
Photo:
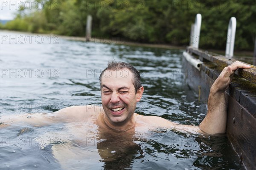
[[[249,69],[250,66],[236,61],[231,66],[225,67],[212,84],[208,98],[208,112],[199,126],[177,124],[157,116],[144,116],[143,120],[147,122],[150,127],[170,128],[179,132],[210,135],[225,133],[227,104],[224,91],[229,86],[233,73],[239,68]]]

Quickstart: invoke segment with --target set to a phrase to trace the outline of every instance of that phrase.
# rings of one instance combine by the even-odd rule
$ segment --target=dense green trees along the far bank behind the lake
[[[39,1],[39,0],[37,0]],[[2,29],[84,36],[93,17],[93,37],[188,45],[195,15],[202,14],[200,48],[225,49],[227,26],[236,17],[235,48],[253,50],[255,0],[43,0],[44,8],[20,9]]]

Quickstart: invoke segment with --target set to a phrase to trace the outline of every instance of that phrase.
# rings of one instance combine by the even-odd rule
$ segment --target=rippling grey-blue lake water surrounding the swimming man
[[[198,102],[184,83],[183,50],[86,43],[3,30],[0,35],[1,117],[101,105],[99,74],[111,60],[131,63],[141,73],[145,91],[135,112],[192,125],[199,125],[207,112],[206,104]],[[75,123],[5,127],[0,132],[0,169],[243,168],[225,135],[156,129],[101,136],[94,129],[93,124]]]

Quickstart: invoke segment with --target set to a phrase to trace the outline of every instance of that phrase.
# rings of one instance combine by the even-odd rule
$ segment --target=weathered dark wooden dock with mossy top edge
[[[222,69],[235,62],[235,59],[205,52],[192,46],[184,55],[198,61],[194,66],[185,57],[183,68],[188,72],[186,83],[198,93],[201,101],[207,102],[210,87]],[[250,65],[250,64],[248,64]],[[238,69],[235,72],[227,95],[227,137],[248,170],[256,169],[256,66],[251,69]]]

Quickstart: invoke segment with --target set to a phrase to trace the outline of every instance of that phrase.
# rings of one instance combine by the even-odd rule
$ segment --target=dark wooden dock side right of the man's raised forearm
[[[256,118],[228,95],[227,136],[248,170],[256,169]]]

